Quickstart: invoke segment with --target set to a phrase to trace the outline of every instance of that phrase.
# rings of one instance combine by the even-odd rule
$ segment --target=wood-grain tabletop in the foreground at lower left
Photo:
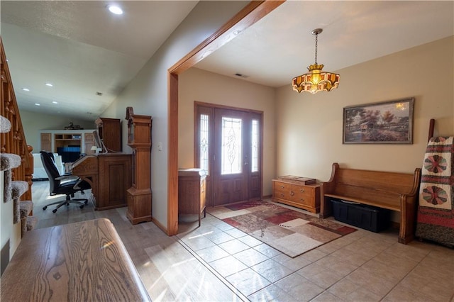
[[[106,218],[31,230],[1,276],[1,301],[151,301]]]

